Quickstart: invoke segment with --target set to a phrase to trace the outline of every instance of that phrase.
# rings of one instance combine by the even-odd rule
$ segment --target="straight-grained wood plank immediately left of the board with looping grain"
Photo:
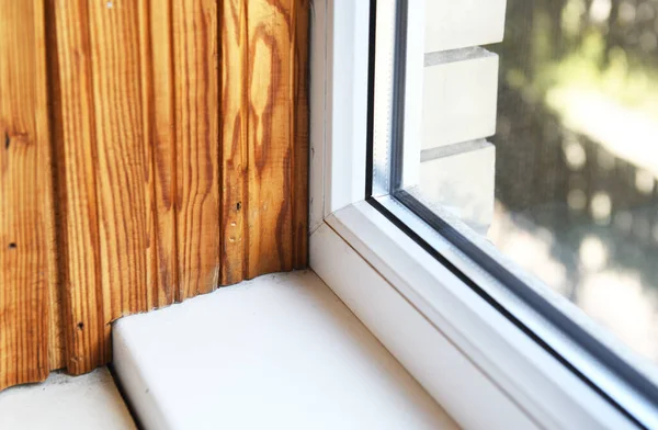
[[[219,283],[219,73],[216,0],[177,0],[177,301]]]

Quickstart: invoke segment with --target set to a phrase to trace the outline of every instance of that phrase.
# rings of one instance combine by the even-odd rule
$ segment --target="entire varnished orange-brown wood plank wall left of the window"
[[[308,9],[0,0],[0,389],[106,363],[124,315],[306,265]]]

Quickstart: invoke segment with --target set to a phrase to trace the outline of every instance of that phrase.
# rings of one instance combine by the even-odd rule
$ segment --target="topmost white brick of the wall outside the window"
[[[502,41],[506,0],[426,0],[426,53]]]

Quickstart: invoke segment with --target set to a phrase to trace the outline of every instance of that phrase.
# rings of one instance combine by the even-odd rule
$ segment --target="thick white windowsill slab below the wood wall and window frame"
[[[454,429],[310,271],[118,320],[114,366],[147,429]]]

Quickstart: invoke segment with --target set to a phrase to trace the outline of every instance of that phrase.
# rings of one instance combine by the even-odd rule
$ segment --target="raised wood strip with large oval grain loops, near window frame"
[[[251,0],[248,278],[293,268],[293,0]]]

